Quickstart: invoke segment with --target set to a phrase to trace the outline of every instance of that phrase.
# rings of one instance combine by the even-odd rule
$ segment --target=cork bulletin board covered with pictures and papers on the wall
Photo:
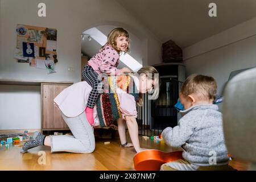
[[[17,24],[14,58],[18,63],[55,73],[57,30],[55,28]]]

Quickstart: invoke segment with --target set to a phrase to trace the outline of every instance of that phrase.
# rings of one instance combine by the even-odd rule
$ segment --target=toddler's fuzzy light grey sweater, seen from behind
[[[227,164],[229,158],[218,106],[196,105],[180,112],[185,115],[178,125],[163,130],[164,142],[172,147],[182,146],[183,158],[190,163],[210,166],[209,159],[213,162],[213,153],[216,152],[217,165]]]

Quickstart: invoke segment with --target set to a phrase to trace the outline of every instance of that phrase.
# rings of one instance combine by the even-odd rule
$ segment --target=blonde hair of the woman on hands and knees
[[[150,97],[152,100],[157,99],[159,95],[159,77],[156,77],[155,74],[158,74],[158,71],[156,71],[154,67],[145,66],[139,69],[139,71],[137,71],[137,74],[146,75],[147,78],[149,78],[150,80],[154,80],[154,89],[152,90],[152,93],[150,93]],[[139,93],[139,100],[137,102],[137,105],[142,106],[142,104],[143,104],[142,93]]]

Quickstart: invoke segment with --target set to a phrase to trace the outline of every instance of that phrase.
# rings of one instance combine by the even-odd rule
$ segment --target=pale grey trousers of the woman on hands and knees
[[[72,131],[71,135],[51,136],[51,152],[91,153],[95,149],[93,128],[86,120],[85,111],[74,118],[61,116]]]

